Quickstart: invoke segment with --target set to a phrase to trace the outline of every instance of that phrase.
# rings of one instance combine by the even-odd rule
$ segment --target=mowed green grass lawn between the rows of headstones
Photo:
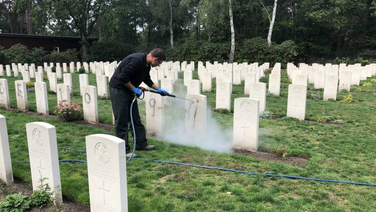
[[[194,78],[197,78],[197,75]],[[5,79],[8,79],[11,105],[14,107],[15,79]],[[73,74],[72,79],[75,96],[71,97],[71,101],[80,104],[82,97],[79,96],[78,74]],[[95,86],[94,75],[89,74],[89,81]],[[370,79],[366,81],[369,82]],[[356,86],[352,87],[352,103],[308,99],[306,120],[309,121],[285,117],[288,84],[283,70],[281,96],[267,97],[266,102],[266,109],[278,118],[260,119],[259,143],[261,149],[283,150],[290,155],[310,157],[304,168],[260,161],[238,154],[215,153],[155,139],[148,139],[148,142],[157,145],[156,151],[138,153],[146,159],[220,166],[259,173],[376,183],[376,83],[372,87],[360,86],[361,92],[353,91]],[[311,92],[321,97],[323,95],[323,91],[313,90],[313,85],[309,85],[308,89],[308,98]],[[215,83],[213,92],[204,94],[208,97],[208,106],[214,108]],[[243,86],[234,86],[233,99],[246,97],[243,94]],[[339,92],[337,96],[340,98],[347,94]],[[56,95],[48,94],[48,99],[50,111],[53,111],[57,103]],[[35,110],[33,92],[28,92],[28,101],[30,110]],[[141,116],[144,117],[144,104],[140,104],[140,108]],[[101,122],[112,122],[109,100],[98,100],[98,110]],[[59,147],[85,149],[86,135],[114,135],[113,131],[107,132],[95,127],[62,123],[11,111],[0,112],[7,118],[14,175],[29,184],[30,167],[23,162],[28,160],[26,123],[44,121],[54,125]],[[232,128],[233,114],[212,112],[212,116],[221,128]],[[331,123],[338,125],[329,125]],[[86,155],[59,150],[59,159],[86,160]],[[86,164],[61,162],[60,172],[63,194],[88,204]],[[372,186],[264,177],[136,159],[127,164],[127,182],[128,208],[131,212],[376,211],[376,187]],[[227,191],[232,194],[226,194]]]

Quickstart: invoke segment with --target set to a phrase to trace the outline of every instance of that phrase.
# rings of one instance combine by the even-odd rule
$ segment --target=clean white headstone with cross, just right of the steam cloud
[[[259,101],[237,98],[234,101],[233,146],[256,152],[258,150]]]

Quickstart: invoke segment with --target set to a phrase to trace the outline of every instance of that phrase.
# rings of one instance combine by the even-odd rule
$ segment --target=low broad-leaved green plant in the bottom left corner
[[[24,212],[30,208],[29,197],[18,194],[9,194],[0,201],[1,212]]]

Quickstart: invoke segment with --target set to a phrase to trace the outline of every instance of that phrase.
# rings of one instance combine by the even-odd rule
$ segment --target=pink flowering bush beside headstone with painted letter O
[[[82,120],[83,117],[82,107],[75,103],[68,104],[67,100],[59,102],[59,104],[55,106],[55,113],[60,120],[65,122]]]

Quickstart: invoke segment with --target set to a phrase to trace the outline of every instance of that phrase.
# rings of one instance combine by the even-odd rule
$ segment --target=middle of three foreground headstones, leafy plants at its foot
[[[33,190],[39,190],[40,179],[46,178],[43,183],[48,184],[62,202],[55,127],[44,122],[27,123],[26,134]]]

